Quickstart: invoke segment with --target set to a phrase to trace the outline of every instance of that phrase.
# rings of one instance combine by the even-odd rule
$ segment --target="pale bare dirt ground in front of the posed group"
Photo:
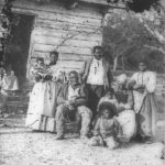
[[[109,150],[89,146],[77,134],[56,141],[56,134],[24,128],[0,129],[0,165],[164,165],[162,143],[131,143]]]

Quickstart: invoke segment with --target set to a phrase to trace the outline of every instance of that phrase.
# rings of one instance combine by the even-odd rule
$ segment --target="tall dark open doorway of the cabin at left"
[[[25,14],[18,14],[18,16],[19,23],[11,30],[12,38],[7,47],[6,62],[11,64],[21,86],[26,81],[26,64],[34,16]]]

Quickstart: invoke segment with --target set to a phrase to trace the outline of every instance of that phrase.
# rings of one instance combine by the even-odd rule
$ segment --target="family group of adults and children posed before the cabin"
[[[124,74],[114,78],[102,47],[95,46],[82,75],[76,70],[66,75],[58,53],[51,52],[50,65],[37,58],[31,69],[35,84],[25,124],[34,131],[56,132],[56,140],[63,140],[66,122],[76,121],[81,139],[110,148],[133,138],[151,141],[155,136],[156,74],[144,62],[139,69],[130,79]]]

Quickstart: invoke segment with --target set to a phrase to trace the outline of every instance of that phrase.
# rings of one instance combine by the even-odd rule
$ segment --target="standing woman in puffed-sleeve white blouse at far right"
[[[156,131],[156,74],[147,70],[145,62],[139,63],[140,72],[133,74],[131,84],[134,110],[138,117],[138,135],[143,142],[151,141]]]

